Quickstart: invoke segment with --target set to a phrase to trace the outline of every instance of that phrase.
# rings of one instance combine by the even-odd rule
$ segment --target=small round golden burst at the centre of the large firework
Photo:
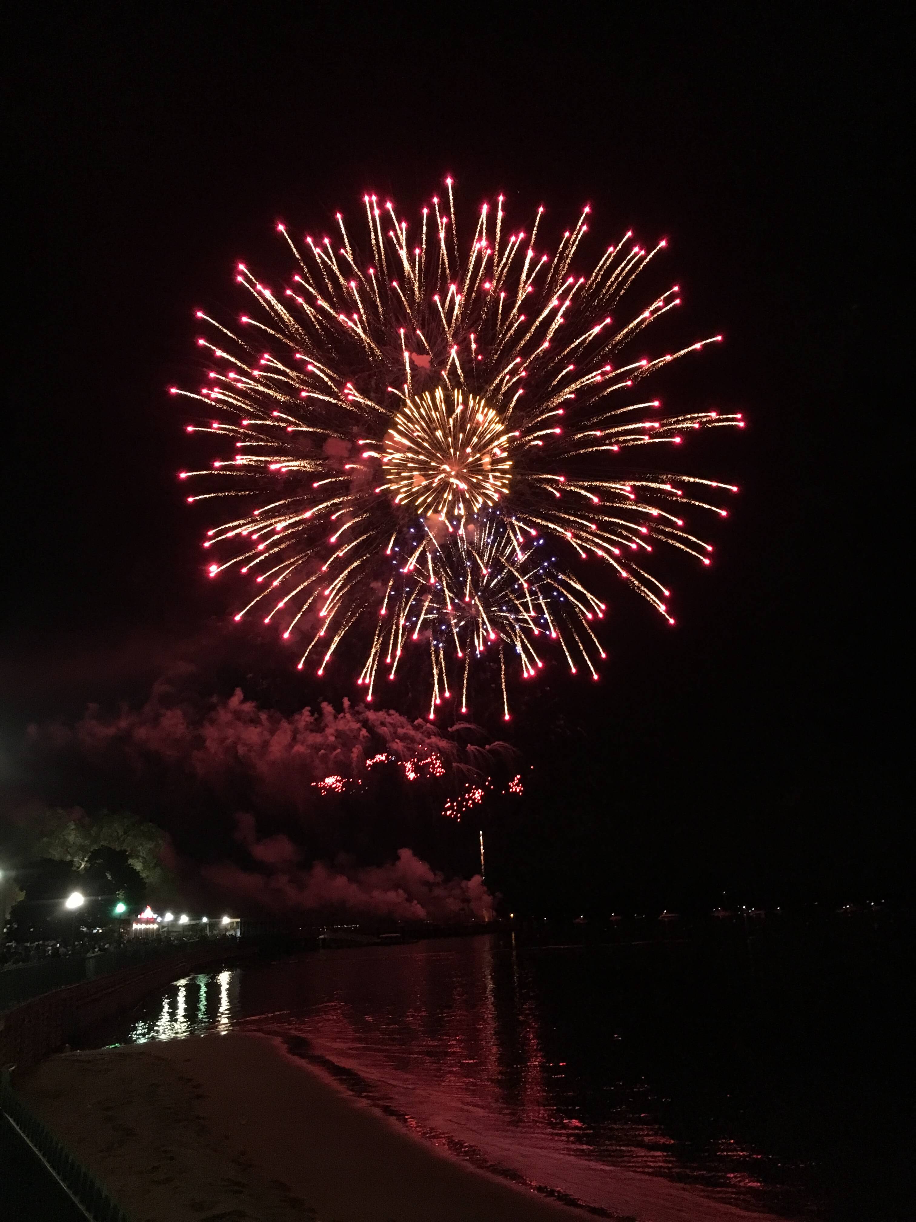
[[[509,490],[509,434],[482,398],[454,391],[405,401],[391,422],[381,461],[396,505],[465,517]]]

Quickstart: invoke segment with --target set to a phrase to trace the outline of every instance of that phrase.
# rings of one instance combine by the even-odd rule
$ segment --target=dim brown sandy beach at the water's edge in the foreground
[[[265,1036],[66,1052],[17,1086],[132,1222],[592,1216],[440,1155]]]

